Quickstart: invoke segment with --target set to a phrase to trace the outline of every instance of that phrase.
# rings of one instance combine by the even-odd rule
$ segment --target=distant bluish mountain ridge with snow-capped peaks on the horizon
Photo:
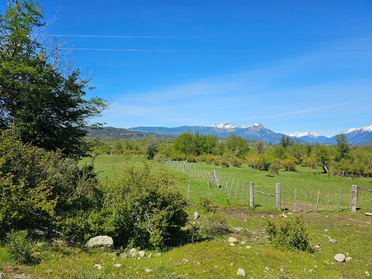
[[[279,143],[280,138],[282,138],[282,133],[276,133],[270,129],[265,128],[260,123],[254,123],[249,126],[239,126],[231,125],[229,123],[221,124],[212,124],[208,126],[180,126],[174,128],[167,127],[133,127],[128,128],[128,131],[136,131],[143,133],[157,133],[161,135],[172,135],[177,136],[183,132],[199,132],[199,134],[204,135],[215,135],[217,137],[226,138],[231,133],[234,133],[238,136],[241,136],[247,140],[262,140],[265,142],[272,142],[273,144]],[[359,128],[351,128],[344,131],[344,134],[347,136],[347,139],[352,142],[352,144],[360,144],[367,141],[372,141],[372,124],[369,126],[363,126]],[[309,142],[320,142],[320,143],[336,143],[336,135],[333,137],[325,137],[323,135],[315,134],[312,132],[303,132],[303,133],[293,133],[285,134],[289,137],[295,139],[298,138],[301,141]]]

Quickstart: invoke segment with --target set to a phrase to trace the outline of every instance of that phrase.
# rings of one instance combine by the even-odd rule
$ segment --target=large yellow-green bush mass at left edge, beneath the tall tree
[[[92,165],[79,168],[58,150],[23,144],[9,132],[0,135],[0,229],[76,227],[98,205],[97,185]]]

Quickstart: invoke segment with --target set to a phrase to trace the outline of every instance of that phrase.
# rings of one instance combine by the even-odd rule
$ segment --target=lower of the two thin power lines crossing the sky
[[[52,48],[47,48],[52,49]],[[64,50],[97,50],[97,51],[153,51],[153,52],[372,52],[365,50],[195,50],[195,49],[111,49],[111,48],[59,48]]]

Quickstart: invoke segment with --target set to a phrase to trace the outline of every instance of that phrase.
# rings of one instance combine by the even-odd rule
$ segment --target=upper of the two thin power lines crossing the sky
[[[311,38],[372,38],[372,36],[247,36],[247,37],[202,37],[202,36],[100,36],[100,35],[39,35],[50,37],[88,37],[88,38],[144,38],[144,39],[311,39]]]

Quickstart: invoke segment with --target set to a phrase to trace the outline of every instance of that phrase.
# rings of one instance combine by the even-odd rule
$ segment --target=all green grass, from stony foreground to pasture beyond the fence
[[[140,166],[140,157],[133,157],[129,163]],[[109,155],[98,156],[95,159],[95,167],[100,171],[100,179],[110,178],[121,171],[124,158]],[[360,208],[357,213],[350,213],[350,188],[357,185],[361,188],[371,188],[371,178],[350,179],[348,177],[327,176],[319,173],[320,169],[308,169],[299,167],[298,172],[280,171],[279,176],[266,177],[268,172],[256,171],[248,167],[221,168],[206,164],[192,163],[190,167],[201,169],[202,171],[213,171],[219,175],[230,176],[230,182],[234,178],[232,185],[230,205],[227,202],[225,188],[217,189],[211,187],[212,202],[217,206],[217,210],[224,212],[228,219],[228,226],[242,227],[250,232],[236,232],[231,230],[230,234],[215,239],[202,242],[188,242],[185,240],[180,247],[174,247],[167,251],[162,251],[161,256],[151,259],[141,260],[132,258],[121,258],[111,255],[108,251],[99,249],[86,250],[84,248],[74,248],[65,245],[51,246],[45,256],[45,260],[40,264],[31,267],[17,267],[12,263],[9,254],[4,248],[0,248],[0,269],[6,274],[6,278],[12,276],[24,277],[14,278],[240,278],[237,276],[237,269],[243,268],[246,278],[368,278],[366,271],[372,273],[372,217],[365,216],[364,212],[372,211],[372,193],[361,192],[357,205]],[[187,196],[187,186],[190,180],[190,205],[186,209],[189,214],[190,223],[204,222],[204,216],[194,219],[194,203],[200,196],[209,196],[206,181],[199,179],[198,176],[183,174],[182,171],[174,170],[164,164],[154,162],[154,171],[160,168],[170,170],[177,177],[177,186],[183,190]],[[314,174],[319,173],[319,174]],[[239,179],[237,199],[234,199],[235,187]],[[275,208],[275,198],[271,196],[255,193],[254,209],[249,208],[248,187],[243,193],[243,202],[240,202],[241,186],[243,181],[254,182],[255,189],[267,193],[275,193],[275,183],[281,183],[282,191],[285,187],[286,207],[292,213],[294,201],[294,189],[297,188],[298,208],[302,209],[305,202],[305,192],[308,189],[308,211],[310,213],[298,212],[294,215],[304,217],[309,221],[311,231],[311,246],[320,244],[320,248],[314,253],[298,251],[280,251],[267,244],[267,240],[262,238],[262,243],[257,243],[252,231],[262,230],[267,220],[267,215],[273,214],[270,220],[278,221],[280,212]],[[341,212],[337,213],[337,203],[340,189],[343,189],[341,199]],[[318,190],[321,190],[319,212],[315,213],[315,203]],[[330,210],[326,211],[329,189],[331,192]],[[283,205],[283,201],[282,201]],[[261,216],[263,215],[263,217]],[[293,216],[293,215],[292,215]],[[244,217],[244,218],[242,218]],[[265,217],[265,218],[264,218]],[[288,215],[291,218],[291,215]],[[187,226],[190,228],[190,226]],[[327,229],[328,232],[324,232]],[[329,235],[337,240],[336,244],[328,242]],[[245,245],[236,244],[231,247],[227,243],[227,238],[233,235],[238,241],[246,241]],[[252,235],[253,239],[250,237]],[[251,248],[246,248],[249,245]],[[157,253],[158,251],[146,251]],[[42,252],[43,253],[43,252]],[[333,259],[337,253],[349,253],[352,257],[350,262],[338,263]],[[183,259],[187,259],[186,262]],[[95,263],[103,266],[97,270]],[[122,267],[113,267],[113,264],[121,263]],[[233,265],[231,265],[233,263]],[[267,267],[267,268],[266,268]],[[152,272],[146,273],[145,269]],[[265,269],[266,268],[266,269]],[[268,270],[267,270],[268,269]],[[311,269],[311,271],[309,271]]]

